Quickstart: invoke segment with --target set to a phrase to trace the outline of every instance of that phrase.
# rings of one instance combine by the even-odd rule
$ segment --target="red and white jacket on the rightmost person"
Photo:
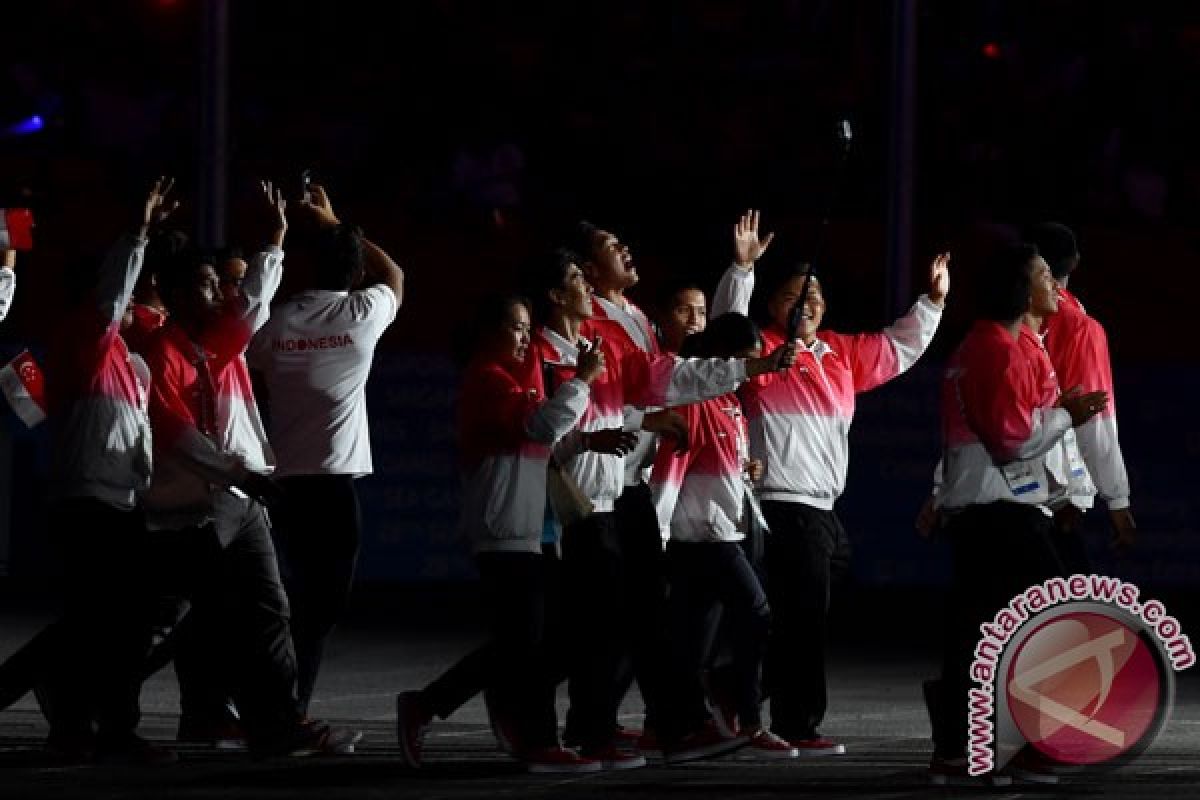
[[[1117,440],[1109,338],[1104,327],[1066,289],[1058,290],[1058,313],[1046,319],[1045,347],[1064,390],[1081,386],[1084,391],[1103,389],[1109,393],[1108,408],[1075,431],[1092,491],[1073,493],[1072,503],[1090,509],[1098,493],[1109,509],[1128,509],[1129,475]]]

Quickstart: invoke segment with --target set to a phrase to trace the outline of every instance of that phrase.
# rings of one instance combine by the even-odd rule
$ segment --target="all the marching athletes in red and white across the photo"
[[[272,308],[281,194],[264,185],[268,245],[229,277],[155,230],[168,191],[149,193],[47,363],[71,591],[64,618],[0,667],[0,699],[40,664],[53,746],[154,760],[137,692],[174,658],[184,720],[204,738],[235,723],[257,754],[352,752],[359,734],[310,720],[307,704],[353,578],[353,482],[371,471],[362,387],[403,276],[313,187],[298,209],[317,277]],[[1086,569],[1080,518],[1097,494],[1118,545],[1133,540],[1106,341],[1066,288],[1074,237],[1054,224],[1028,237],[977,270],[977,321],[946,372],[942,461],[918,519],[954,553],[943,674],[925,686],[938,782],[968,777],[978,622],[1026,585]],[[434,717],[479,693],[498,744],[534,772],[845,752],[820,728],[856,396],[929,347],[949,254],[906,314],[845,335],[822,329],[822,283],[804,265],[768,276],[762,327],[751,319],[770,242],[748,211],[712,308],[679,281],[648,317],[625,296],[640,279],[629,248],[581,222],[528,265],[523,294],[491,296],[461,327],[461,529],[490,638],[397,696],[407,764],[421,764]],[[136,301],[146,263],[157,311]],[[12,283],[0,270],[0,288]],[[270,437],[248,366],[265,378]],[[641,730],[618,722],[635,681]]]

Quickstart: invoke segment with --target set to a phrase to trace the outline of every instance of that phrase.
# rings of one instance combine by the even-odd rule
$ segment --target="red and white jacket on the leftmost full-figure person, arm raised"
[[[150,485],[150,374],[121,338],[146,240],[124,236],[90,299],[59,327],[46,365],[53,431],[50,491],[128,510]]]

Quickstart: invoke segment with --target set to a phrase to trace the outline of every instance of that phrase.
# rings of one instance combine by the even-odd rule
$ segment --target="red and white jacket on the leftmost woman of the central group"
[[[541,553],[550,449],[578,423],[588,395],[586,383],[568,380],[547,399],[532,350],[517,367],[487,360],[467,367],[460,528],[475,553]]]

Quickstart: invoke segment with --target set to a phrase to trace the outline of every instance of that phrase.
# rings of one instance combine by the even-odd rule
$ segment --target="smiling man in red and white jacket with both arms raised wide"
[[[757,239],[757,216],[751,233]],[[752,257],[766,248],[746,249]],[[804,754],[835,754],[845,746],[817,728],[827,706],[824,674],[826,618],[835,567],[845,569],[850,542],[834,504],[846,482],[848,432],[854,396],[911,367],[925,351],[942,317],[949,289],[949,255],[929,267],[929,293],[907,314],[877,333],[844,335],[820,330],[824,317],[821,283],[814,278],[800,297],[804,275],[784,279],[768,300],[770,326],[766,347],[786,336],[788,312],[804,303],[799,338],[803,348],[786,373],[766,375],[742,390],[750,423],[750,452],[763,462],[758,497],[772,535],[767,540],[767,589],[774,613],[772,628],[772,728]],[[713,313],[748,313],[754,289],[754,260],[733,264],[721,277]]]

